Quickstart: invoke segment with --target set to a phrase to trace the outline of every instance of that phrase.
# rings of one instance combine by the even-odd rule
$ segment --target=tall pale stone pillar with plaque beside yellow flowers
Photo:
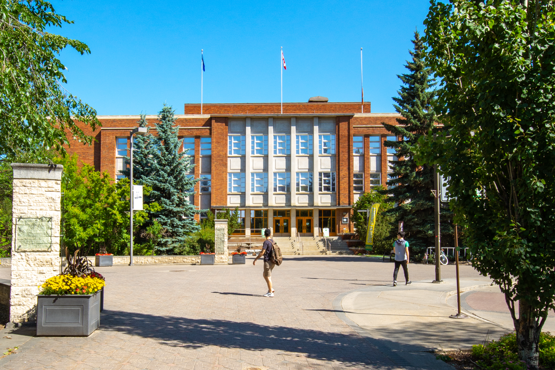
[[[63,166],[12,163],[12,289],[9,321],[37,318],[37,294],[60,265]]]

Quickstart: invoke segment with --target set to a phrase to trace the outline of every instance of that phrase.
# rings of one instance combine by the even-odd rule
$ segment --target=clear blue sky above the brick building
[[[321,95],[365,101],[392,112],[415,27],[427,0],[399,1],[85,1],[52,0],[74,24],[51,31],[87,43],[91,54],[64,50],[67,89],[99,115],[183,114],[200,103],[280,101],[280,47],[287,70],[284,102]]]

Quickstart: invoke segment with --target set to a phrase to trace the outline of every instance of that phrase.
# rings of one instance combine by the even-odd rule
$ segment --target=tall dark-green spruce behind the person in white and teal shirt
[[[397,137],[401,136],[403,140],[388,140],[384,143],[387,148],[395,149],[397,160],[388,164],[393,172],[387,181],[388,189],[380,192],[388,194],[388,201],[398,205],[386,212],[395,217],[393,234],[397,234],[398,221],[403,221],[403,230],[410,240],[411,249],[418,255],[425,252],[426,247],[435,244],[434,198],[431,192],[434,189],[433,166],[417,166],[413,155],[418,138],[430,130],[436,130],[433,125],[436,120],[433,111],[436,92],[432,90],[436,83],[425,63],[426,47],[418,31],[415,31],[412,43],[414,50],[409,50],[412,59],[407,60],[405,65],[409,73],[397,75],[403,85],[398,90],[399,96],[393,98],[396,103],[393,107],[402,118],[397,118],[397,126],[382,123],[388,131]],[[442,222],[451,218],[447,207],[442,207],[441,212]],[[442,235],[451,232],[451,225],[442,224]]]

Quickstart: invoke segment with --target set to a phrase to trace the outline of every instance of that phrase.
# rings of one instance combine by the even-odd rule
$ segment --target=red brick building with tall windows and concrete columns
[[[191,201],[199,209],[241,210],[238,234],[330,236],[352,231],[351,207],[372,186],[385,185],[388,137],[383,122],[396,113],[370,113],[370,103],[185,104],[176,115],[183,146],[194,156],[196,185]],[[127,156],[129,131],[139,116],[98,116],[102,128],[90,131],[94,145],[77,141],[68,149],[84,163],[114,179]],[[147,116],[149,126],[157,116]],[[151,133],[156,134],[151,129]]]

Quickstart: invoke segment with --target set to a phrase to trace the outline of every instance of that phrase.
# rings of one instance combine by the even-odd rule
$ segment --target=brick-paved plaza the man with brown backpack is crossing
[[[98,267],[107,281],[99,330],[86,338],[31,337],[18,353],[1,358],[0,368],[407,367],[332,308],[342,293],[391,284],[393,263],[358,256],[287,258],[274,268],[275,297],[265,298],[263,263],[252,262]],[[415,285],[433,279],[433,266],[409,268]],[[453,278],[455,267],[444,266],[442,275]],[[461,266],[461,277],[478,273]]]

